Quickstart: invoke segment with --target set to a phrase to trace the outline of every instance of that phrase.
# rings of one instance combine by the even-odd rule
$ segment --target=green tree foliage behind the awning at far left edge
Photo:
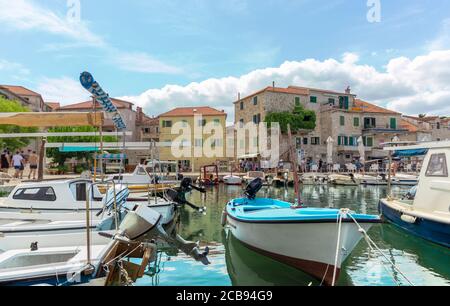
[[[7,100],[0,97],[0,113],[26,113],[30,110],[23,107],[17,101]],[[36,128],[22,128],[13,125],[0,125],[0,133],[13,134],[13,133],[34,133],[37,132]],[[30,143],[30,139],[27,138],[0,138],[0,149],[8,148],[11,152],[26,147]]]

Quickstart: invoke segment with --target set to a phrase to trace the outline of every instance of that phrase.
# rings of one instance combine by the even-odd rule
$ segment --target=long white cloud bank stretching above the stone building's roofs
[[[277,86],[310,86],[343,91],[350,85],[360,98],[408,114],[449,113],[450,50],[434,51],[413,59],[398,57],[386,69],[359,63],[357,54],[341,61],[287,61],[279,67],[252,71],[240,77],[212,78],[186,86],[166,85],[138,96],[123,97],[157,115],[177,106],[210,105],[224,109],[233,120],[238,92],[251,94],[275,81]],[[420,103],[419,103],[420,102]]]

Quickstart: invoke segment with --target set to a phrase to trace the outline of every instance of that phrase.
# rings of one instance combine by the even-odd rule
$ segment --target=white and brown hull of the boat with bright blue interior
[[[279,262],[302,270],[326,285],[331,285],[337,246],[336,222],[242,222],[228,216],[235,238],[248,248]],[[362,224],[368,230],[372,224]],[[282,237],[282,239],[280,239]],[[362,236],[356,224],[342,225],[341,250],[353,250]],[[349,253],[342,251],[336,267],[336,280]]]

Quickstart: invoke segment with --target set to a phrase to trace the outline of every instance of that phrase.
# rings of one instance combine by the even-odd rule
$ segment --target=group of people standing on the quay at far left
[[[27,165],[30,166],[30,172],[28,174],[28,179],[36,179],[36,172],[38,169],[39,157],[36,151],[28,150],[16,151],[12,154],[9,149],[3,150],[0,156],[0,171],[8,172],[10,168],[14,168],[14,178],[23,179],[25,168]]]

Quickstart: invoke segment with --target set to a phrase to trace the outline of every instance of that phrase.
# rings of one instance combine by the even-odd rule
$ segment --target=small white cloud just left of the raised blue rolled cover
[[[88,101],[89,94],[79,82],[69,77],[43,79],[36,88],[44,101],[60,102],[62,105]]]

